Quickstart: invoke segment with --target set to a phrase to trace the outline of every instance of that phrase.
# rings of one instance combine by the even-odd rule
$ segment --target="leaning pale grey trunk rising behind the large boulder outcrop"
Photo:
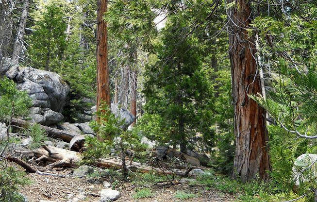
[[[17,39],[14,43],[13,54],[12,54],[12,62],[14,62],[16,64],[19,62],[19,58],[21,56],[21,53],[25,49],[24,43],[23,43],[23,38],[24,38],[24,34],[25,34],[26,20],[28,18],[28,13],[29,13],[29,5],[30,5],[30,1],[24,0],[20,24],[19,24],[18,31],[17,31]]]

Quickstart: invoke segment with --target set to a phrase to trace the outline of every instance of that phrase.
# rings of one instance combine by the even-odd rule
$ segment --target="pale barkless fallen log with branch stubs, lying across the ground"
[[[39,149],[28,151],[32,152],[37,159],[35,161],[49,161],[51,164],[48,165],[49,168],[53,167],[76,167],[77,163],[82,160],[82,156],[79,152],[69,151],[62,148],[57,148],[53,146],[43,146]],[[100,159],[96,162],[96,166],[100,168],[121,168],[121,159],[111,158],[111,159]],[[148,172],[158,172],[161,174],[172,174],[168,170],[163,170],[160,168],[152,168],[147,165],[143,165],[137,162],[129,162],[128,168],[137,168],[138,171],[143,173]]]

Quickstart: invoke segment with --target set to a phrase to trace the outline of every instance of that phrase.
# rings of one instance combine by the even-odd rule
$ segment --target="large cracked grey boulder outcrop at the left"
[[[58,74],[32,67],[19,67],[9,58],[4,58],[0,76],[8,77],[17,83],[17,89],[28,92],[33,103],[30,109],[31,121],[52,125],[63,120],[61,112],[70,88]]]

